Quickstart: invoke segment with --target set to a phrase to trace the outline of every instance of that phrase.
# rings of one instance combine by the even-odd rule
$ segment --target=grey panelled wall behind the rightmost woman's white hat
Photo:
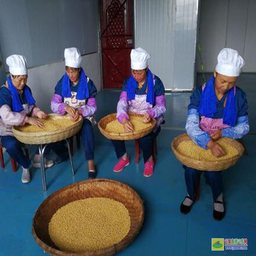
[[[237,49],[245,59],[243,72],[256,72],[256,1],[202,0],[199,43],[206,72],[215,68],[218,52]],[[201,72],[197,55],[197,71]]]

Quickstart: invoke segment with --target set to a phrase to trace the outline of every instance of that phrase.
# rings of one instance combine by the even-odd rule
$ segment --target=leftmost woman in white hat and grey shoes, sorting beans
[[[0,136],[1,144],[9,155],[23,168],[22,182],[30,181],[30,160],[24,155],[20,142],[13,136],[12,126],[35,125],[42,127],[38,118],[46,118],[42,110],[35,106],[27,83],[27,61],[22,55],[11,55],[6,59],[10,76],[0,88]],[[52,160],[45,159],[45,167],[53,166]],[[40,167],[39,155],[33,157],[33,166]]]

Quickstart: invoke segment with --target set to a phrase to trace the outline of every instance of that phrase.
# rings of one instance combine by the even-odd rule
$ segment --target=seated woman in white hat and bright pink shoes
[[[131,76],[124,81],[122,93],[117,104],[117,120],[125,131],[133,131],[128,112],[143,114],[143,122],[156,118],[157,125],[153,132],[139,139],[143,151],[144,176],[153,174],[153,140],[160,132],[165,107],[165,88],[162,81],[148,69],[150,55],[142,48],[131,50]],[[120,158],[114,172],[120,172],[130,163],[124,141],[112,140],[117,158]]]

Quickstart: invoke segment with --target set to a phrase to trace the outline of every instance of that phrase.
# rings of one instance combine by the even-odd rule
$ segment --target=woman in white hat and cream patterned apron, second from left
[[[94,179],[94,133],[92,123],[97,110],[97,89],[92,80],[85,75],[81,68],[81,54],[79,49],[72,47],[64,51],[66,72],[55,87],[51,109],[53,112],[64,115],[68,113],[74,122],[79,115],[84,117],[81,129],[85,157],[88,161],[89,179]]]

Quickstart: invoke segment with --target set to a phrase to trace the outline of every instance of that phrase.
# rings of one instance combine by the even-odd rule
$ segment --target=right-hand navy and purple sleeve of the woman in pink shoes
[[[166,112],[165,87],[159,77],[154,77],[155,105],[148,111],[151,117],[159,117]]]

